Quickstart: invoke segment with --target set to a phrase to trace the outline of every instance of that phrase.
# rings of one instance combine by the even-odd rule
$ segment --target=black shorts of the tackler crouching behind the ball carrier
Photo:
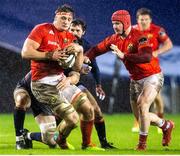
[[[31,98],[30,107],[32,109],[32,113],[34,117],[38,116],[39,114],[43,114],[47,116],[53,115],[52,110],[49,108],[47,104],[40,103],[39,101],[36,100],[36,98],[31,92],[30,81],[26,81],[26,79],[22,79],[21,81],[19,81],[16,86],[16,89],[20,89],[20,88],[26,90]]]

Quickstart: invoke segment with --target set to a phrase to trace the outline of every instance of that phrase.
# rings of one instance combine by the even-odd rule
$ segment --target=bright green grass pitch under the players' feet
[[[173,139],[169,148],[161,146],[162,135],[157,133],[156,127],[151,127],[148,137],[148,149],[146,152],[137,152],[134,150],[138,134],[131,132],[133,116],[131,114],[105,115],[107,138],[113,142],[118,150],[106,150],[101,152],[81,150],[81,134],[79,127],[71,133],[68,141],[75,147],[75,151],[61,150],[59,148],[49,149],[46,145],[34,142],[34,148],[31,150],[15,150],[15,136],[13,128],[13,115],[0,115],[0,154],[45,154],[45,155],[74,155],[74,154],[180,154],[180,115],[166,115],[167,118],[174,120],[176,127],[173,131]],[[30,131],[39,131],[37,124],[32,115],[26,115],[25,127]],[[95,130],[93,131],[92,140],[99,146]]]

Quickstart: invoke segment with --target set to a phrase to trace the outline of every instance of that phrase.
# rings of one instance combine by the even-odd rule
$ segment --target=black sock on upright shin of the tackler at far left
[[[14,128],[16,136],[22,135],[22,130],[24,128],[25,113],[26,111],[22,108],[15,107],[14,109]]]

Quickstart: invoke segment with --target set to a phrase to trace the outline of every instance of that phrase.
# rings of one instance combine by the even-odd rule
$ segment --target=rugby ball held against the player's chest
[[[74,54],[70,54],[65,60],[59,59],[58,63],[63,69],[68,69],[73,67],[75,60],[76,56]]]

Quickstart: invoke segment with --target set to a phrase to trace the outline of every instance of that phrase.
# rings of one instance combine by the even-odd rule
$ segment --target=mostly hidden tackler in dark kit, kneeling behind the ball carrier
[[[32,148],[32,140],[48,144],[50,147],[56,145],[52,139],[55,129],[56,120],[51,109],[36,100],[31,92],[31,72],[17,83],[14,90],[14,127],[16,134],[16,149]],[[34,118],[41,130],[37,133],[29,133],[24,129],[24,119],[27,108],[31,107]],[[48,136],[48,137],[47,137]]]

